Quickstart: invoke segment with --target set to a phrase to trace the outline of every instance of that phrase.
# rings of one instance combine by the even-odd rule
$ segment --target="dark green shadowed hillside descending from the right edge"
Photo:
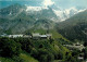
[[[57,24],[58,32],[70,40],[87,40],[87,10]]]

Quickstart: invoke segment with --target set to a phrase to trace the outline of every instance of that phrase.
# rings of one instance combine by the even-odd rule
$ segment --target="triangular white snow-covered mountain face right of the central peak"
[[[54,10],[52,9],[53,12],[57,14],[58,17],[60,17],[61,21],[65,21],[66,18],[79,13],[79,12],[83,12],[85,11],[86,9],[76,9],[75,7],[73,8],[70,8],[70,9],[65,9],[65,10]]]

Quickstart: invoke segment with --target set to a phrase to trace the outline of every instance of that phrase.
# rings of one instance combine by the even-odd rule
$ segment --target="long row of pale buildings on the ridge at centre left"
[[[17,37],[23,37],[23,38],[34,38],[34,39],[50,39],[52,38],[51,34],[45,34],[40,35],[39,33],[33,33],[32,35],[0,35],[1,37],[9,37],[9,38],[17,38]]]

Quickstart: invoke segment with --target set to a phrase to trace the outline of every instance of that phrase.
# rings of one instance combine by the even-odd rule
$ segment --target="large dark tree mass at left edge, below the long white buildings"
[[[0,38],[0,55],[1,57],[13,57],[18,55],[21,52],[20,44],[16,44],[10,38]]]

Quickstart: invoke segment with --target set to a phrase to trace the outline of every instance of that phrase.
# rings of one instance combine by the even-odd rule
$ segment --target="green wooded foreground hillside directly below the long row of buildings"
[[[66,52],[72,57],[67,48],[53,39],[1,37],[0,45],[1,62],[53,62],[66,59]]]

